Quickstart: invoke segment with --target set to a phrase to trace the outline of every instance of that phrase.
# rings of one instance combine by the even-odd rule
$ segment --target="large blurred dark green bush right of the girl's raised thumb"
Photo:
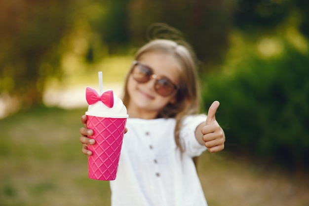
[[[226,150],[309,168],[308,54],[286,48],[279,59],[252,56],[232,74],[212,74],[204,81],[204,107],[221,103],[217,119]]]

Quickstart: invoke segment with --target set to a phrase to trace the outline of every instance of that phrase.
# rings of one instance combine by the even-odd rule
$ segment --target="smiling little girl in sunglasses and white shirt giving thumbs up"
[[[188,46],[157,39],[140,48],[129,70],[123,103],[127,120],[112,206],[207,206],[193,157],[224,149],[225,135],[215,119],[198,115],[199,89]],[[85,125],[87,117],[81,122]],[[80,129],[82,152],[92,130]]]

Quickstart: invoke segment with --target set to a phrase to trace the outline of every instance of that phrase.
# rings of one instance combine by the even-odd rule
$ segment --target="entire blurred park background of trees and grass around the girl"
[[[120,94],[149,26],[183,33],[226,148],[197,170],[210,206],[309,205],[308,0],[0,1],[0,205],[110,205],[78,141],[85,87]],[[164,31],[163,31],[164,33]]]

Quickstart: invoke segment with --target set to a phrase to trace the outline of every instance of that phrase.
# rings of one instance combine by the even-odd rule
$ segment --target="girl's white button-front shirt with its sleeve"
[[[206,150],[195,138],[205,115],[189,116],[181,130],[181,155],[174,139],[175,119],[128,118],[112,206],[207,206],[192,157]]]

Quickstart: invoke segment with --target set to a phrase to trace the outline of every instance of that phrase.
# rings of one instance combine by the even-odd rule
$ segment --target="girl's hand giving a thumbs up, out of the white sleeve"
[[[199,124],[195,130],[197,141],[205,145],[209,152],[219,152],[224,149],[225,134],[215,116],[219,104],[218,101],[211,104],[206,121]]]

